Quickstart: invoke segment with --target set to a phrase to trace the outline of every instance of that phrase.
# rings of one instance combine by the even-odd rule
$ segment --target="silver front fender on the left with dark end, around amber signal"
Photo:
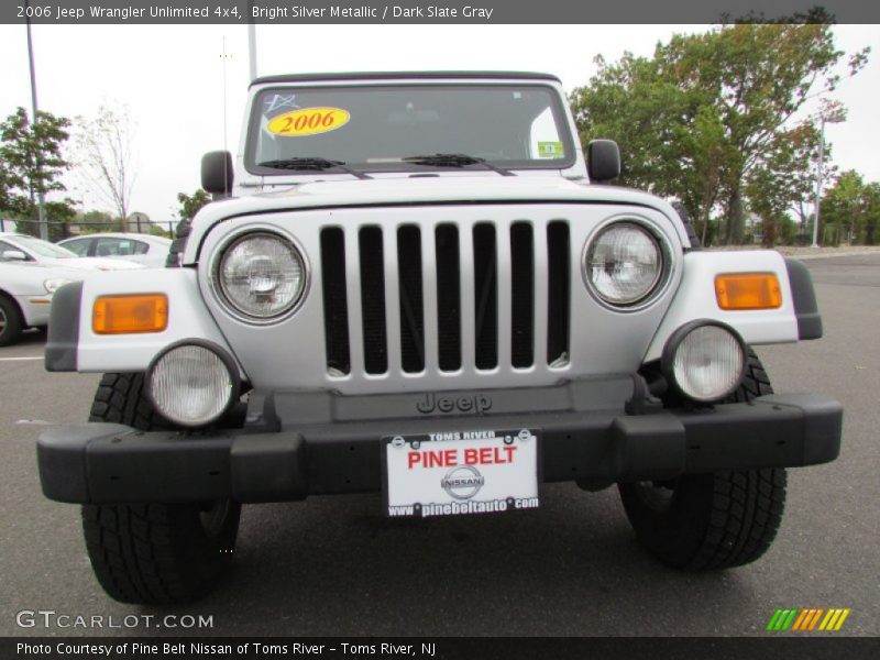
[[[97,334],[91,326],[95,299],[120,294],[165,294],[168,297],[165,330]],[[234,355],[202,302],[195,270],[102,273],[84,282],[67,284],[55,293],[46,342],[46,370],[143,372],[165,346],[187,339],[215,342]]]

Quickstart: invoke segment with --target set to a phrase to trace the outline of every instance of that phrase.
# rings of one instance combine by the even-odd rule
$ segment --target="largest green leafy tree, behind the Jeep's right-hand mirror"
[[[850,57],[850,75],[867,53]],[[793,119],[804,103],[839,81],[843,56],[828,24],[724,25],[674,35],[651,58],[600,59],[598,73],[571,101],[584,142],[620,143],[622,183],[676,197],[704,232],[719,205],[727,242],[741,242],[750,179],[752,190],[766,189],[769,177],[791,175],[783,164],[801,167],[779,154],[793,131],[806,131]]]

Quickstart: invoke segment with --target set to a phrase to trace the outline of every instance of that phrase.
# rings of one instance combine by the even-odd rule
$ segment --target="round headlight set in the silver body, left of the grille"
[[[216,277],[232,309],[255,321],[289,311],[306,288],[299,250],[289,240],[265,231],[244,234],[230,243]]]

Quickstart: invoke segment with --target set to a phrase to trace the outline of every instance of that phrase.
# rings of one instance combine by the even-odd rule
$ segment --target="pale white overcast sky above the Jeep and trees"
[[[554,74],[566,91],[584,85],[601,54],[649,55],[673,32],[698,25],[257,25],[258,74],[349,70],[509,69]],[[848,121],[828,125],[834,163],[880,180],[880,26],[835,28],[838,47],[873,48],[869,65],[834,98]],[[223,37],[227,141],[238,148],[249,82],[248,30],[240,25],[35,25],[40,108],[73,118],[124,103],[138,122],[132,211],[173,220],[178,191],[199,187],[201,154],[223,147]],[[31,109],[25,29],[0,25],[0,116]],[[75,174],[84,209],[101,208]],[[103,205],[106,208],[106,205]],[[106,210],[111,210],[106,208]]]

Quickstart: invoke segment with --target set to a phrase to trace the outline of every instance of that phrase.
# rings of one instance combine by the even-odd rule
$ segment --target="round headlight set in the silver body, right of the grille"
[[[663,252],[653,234],[636,222],[614,222],[590,243],[584,271],[587,283],[605,302],[635,305],[657,288]]]

